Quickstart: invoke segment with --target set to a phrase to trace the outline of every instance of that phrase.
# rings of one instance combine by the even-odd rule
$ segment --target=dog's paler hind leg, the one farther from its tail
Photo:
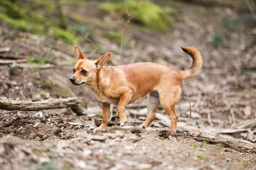
[[[140,128],[146,128],[154,119],[156,111],[159,108],[160,100],[159,94],[157,91],[151,91],[148,96],[148,115],[145,119],[145,122],[140,125]]]

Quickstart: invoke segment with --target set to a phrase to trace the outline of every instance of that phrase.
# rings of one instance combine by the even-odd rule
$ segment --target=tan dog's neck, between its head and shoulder
[[[86,83],[86,85],[97,95],[105,95],[103,91],[110,85],[112,74],[111,66],[103,66],[96,74],[95,79],[92,82]]]

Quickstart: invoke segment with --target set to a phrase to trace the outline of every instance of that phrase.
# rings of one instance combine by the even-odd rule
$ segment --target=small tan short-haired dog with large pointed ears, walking
[[[120,125],[127,122],[125,106],[149,93],[148,115],[140,128],[146,128],[155,118],[161,105],[169,115],[172,130],[176,131],[177,113],[175,104],[180,98],[180,82],[200,71],[203,57],[194,47],[182,48],[192,59],[192,67],[185,71],[175,71],[165,65],[139,62],[130,65],[104,66],[111,53],[94,61],[86,59],[78,46],[74,51],[78,59],[70,78],[73,85],[86,84],[102,104],[102,124],[94,131],[107,127],[110,105],[118,105]]]

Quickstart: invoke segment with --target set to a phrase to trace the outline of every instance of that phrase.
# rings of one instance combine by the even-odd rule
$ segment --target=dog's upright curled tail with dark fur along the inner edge
[[[182,48],[182,50],[192,57],[193,63],[192,67],[189,70],[178,72],[180,75],[180,81],[195,76],[195,74],[197,74],[198,71],[200,71],[203,65],[203,57],[200,51],[198,51],[198,49],[196,49],[195,47],[184,47]]]

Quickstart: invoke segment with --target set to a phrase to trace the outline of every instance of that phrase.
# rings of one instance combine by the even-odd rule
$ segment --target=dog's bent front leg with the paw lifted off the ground
[[[123,94],[121,96],[118,106],[117,106],[117,111],[118,111],[121,127],[123,127],[125,125],[125,123],[127,122],[127,116],[125,114],[125,106],[130,102],[131,96],[132,96],[131,92]]]

